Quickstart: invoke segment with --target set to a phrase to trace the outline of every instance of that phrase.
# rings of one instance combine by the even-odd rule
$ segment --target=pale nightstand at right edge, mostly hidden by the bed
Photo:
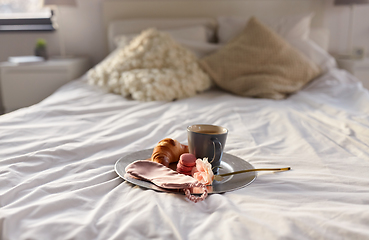
[[[336,59],[338,67],[347,70],[360,79],[363,86],[369,89],[369,58],[364,59]]]

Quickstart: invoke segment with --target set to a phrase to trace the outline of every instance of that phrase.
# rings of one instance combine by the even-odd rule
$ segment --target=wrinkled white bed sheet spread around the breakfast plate
[[[186,127],[229,129],[225,151],[259,173],[189,202],[124,182],[115,162]],[[369,92],[333,69],[282,101],[219,90],[130,101],[71,82],[0,117],[1,239],[368,239]]]

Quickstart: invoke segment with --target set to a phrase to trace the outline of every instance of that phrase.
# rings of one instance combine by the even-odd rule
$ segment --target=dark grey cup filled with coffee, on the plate
[[[216,125],[197,124],[187,127],[188,147],[196,158],[208,158],[213,173],[218,174],[228,129]]]

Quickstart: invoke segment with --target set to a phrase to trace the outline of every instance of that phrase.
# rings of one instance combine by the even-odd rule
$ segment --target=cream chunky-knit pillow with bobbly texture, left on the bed
[[[211,86],[197,57],[168,33],[147,29],[88,71],[88,82],[139,101],[192,97]]]

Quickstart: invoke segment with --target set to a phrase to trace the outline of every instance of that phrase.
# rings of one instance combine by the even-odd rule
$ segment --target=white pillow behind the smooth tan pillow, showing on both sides
[[[309,39],[312,17],[313,14],[285,16],[278,19],[264,18],[261,22],[326,72],[337,66],[336,61],[328,52]],[[243,31],[249,17],[223,16],[218,17],[217,20],[218,40],[221,44],[225,44]]]

